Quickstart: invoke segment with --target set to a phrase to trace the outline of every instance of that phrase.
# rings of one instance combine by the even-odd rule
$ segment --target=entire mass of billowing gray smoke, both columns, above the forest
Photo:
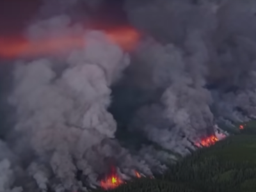
[[[163,172],[216,123],[255,118],[255,1],[126,0],[129,22],[147,34],[131,54],[70,27],[87,1],[44,2],[47,19],[36,17],[27,38],[83,32],[84,47],[15,62],[0,191],[86,191],[113,164],[123,179]]]

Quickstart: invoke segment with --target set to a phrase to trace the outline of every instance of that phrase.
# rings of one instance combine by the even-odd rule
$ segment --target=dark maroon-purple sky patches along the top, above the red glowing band
[[[61,2],[61,1],[60,1]],[[42,6],[40,0],[3,0],[0,2],[0,35],[10,35],[21,33],[29,22],[38,14]],[[127,17],[123,9],[123,0],[109,0],[100,3],[96,9],[90,8],[90,4],[81,3],[79,8],[81,15],[90,12],[91,17],[95,20],[106,20],[109,24],[127,23]],[[79,6],[81,5],[79,4]],[[89,8],[88,8],[89,6]],[[52,7],[58,10],[57,7]]]

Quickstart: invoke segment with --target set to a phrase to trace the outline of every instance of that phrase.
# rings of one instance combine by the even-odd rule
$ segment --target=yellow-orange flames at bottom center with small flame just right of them
[[[134,171],[134,173],[137,178],[141,178],[139,172]],[[100,180],[100,187],[105,190],[115,189],[121,184],[125,184],[125,181],[118,176],[115,167],[111,168],[111,173],[105,179]]]

